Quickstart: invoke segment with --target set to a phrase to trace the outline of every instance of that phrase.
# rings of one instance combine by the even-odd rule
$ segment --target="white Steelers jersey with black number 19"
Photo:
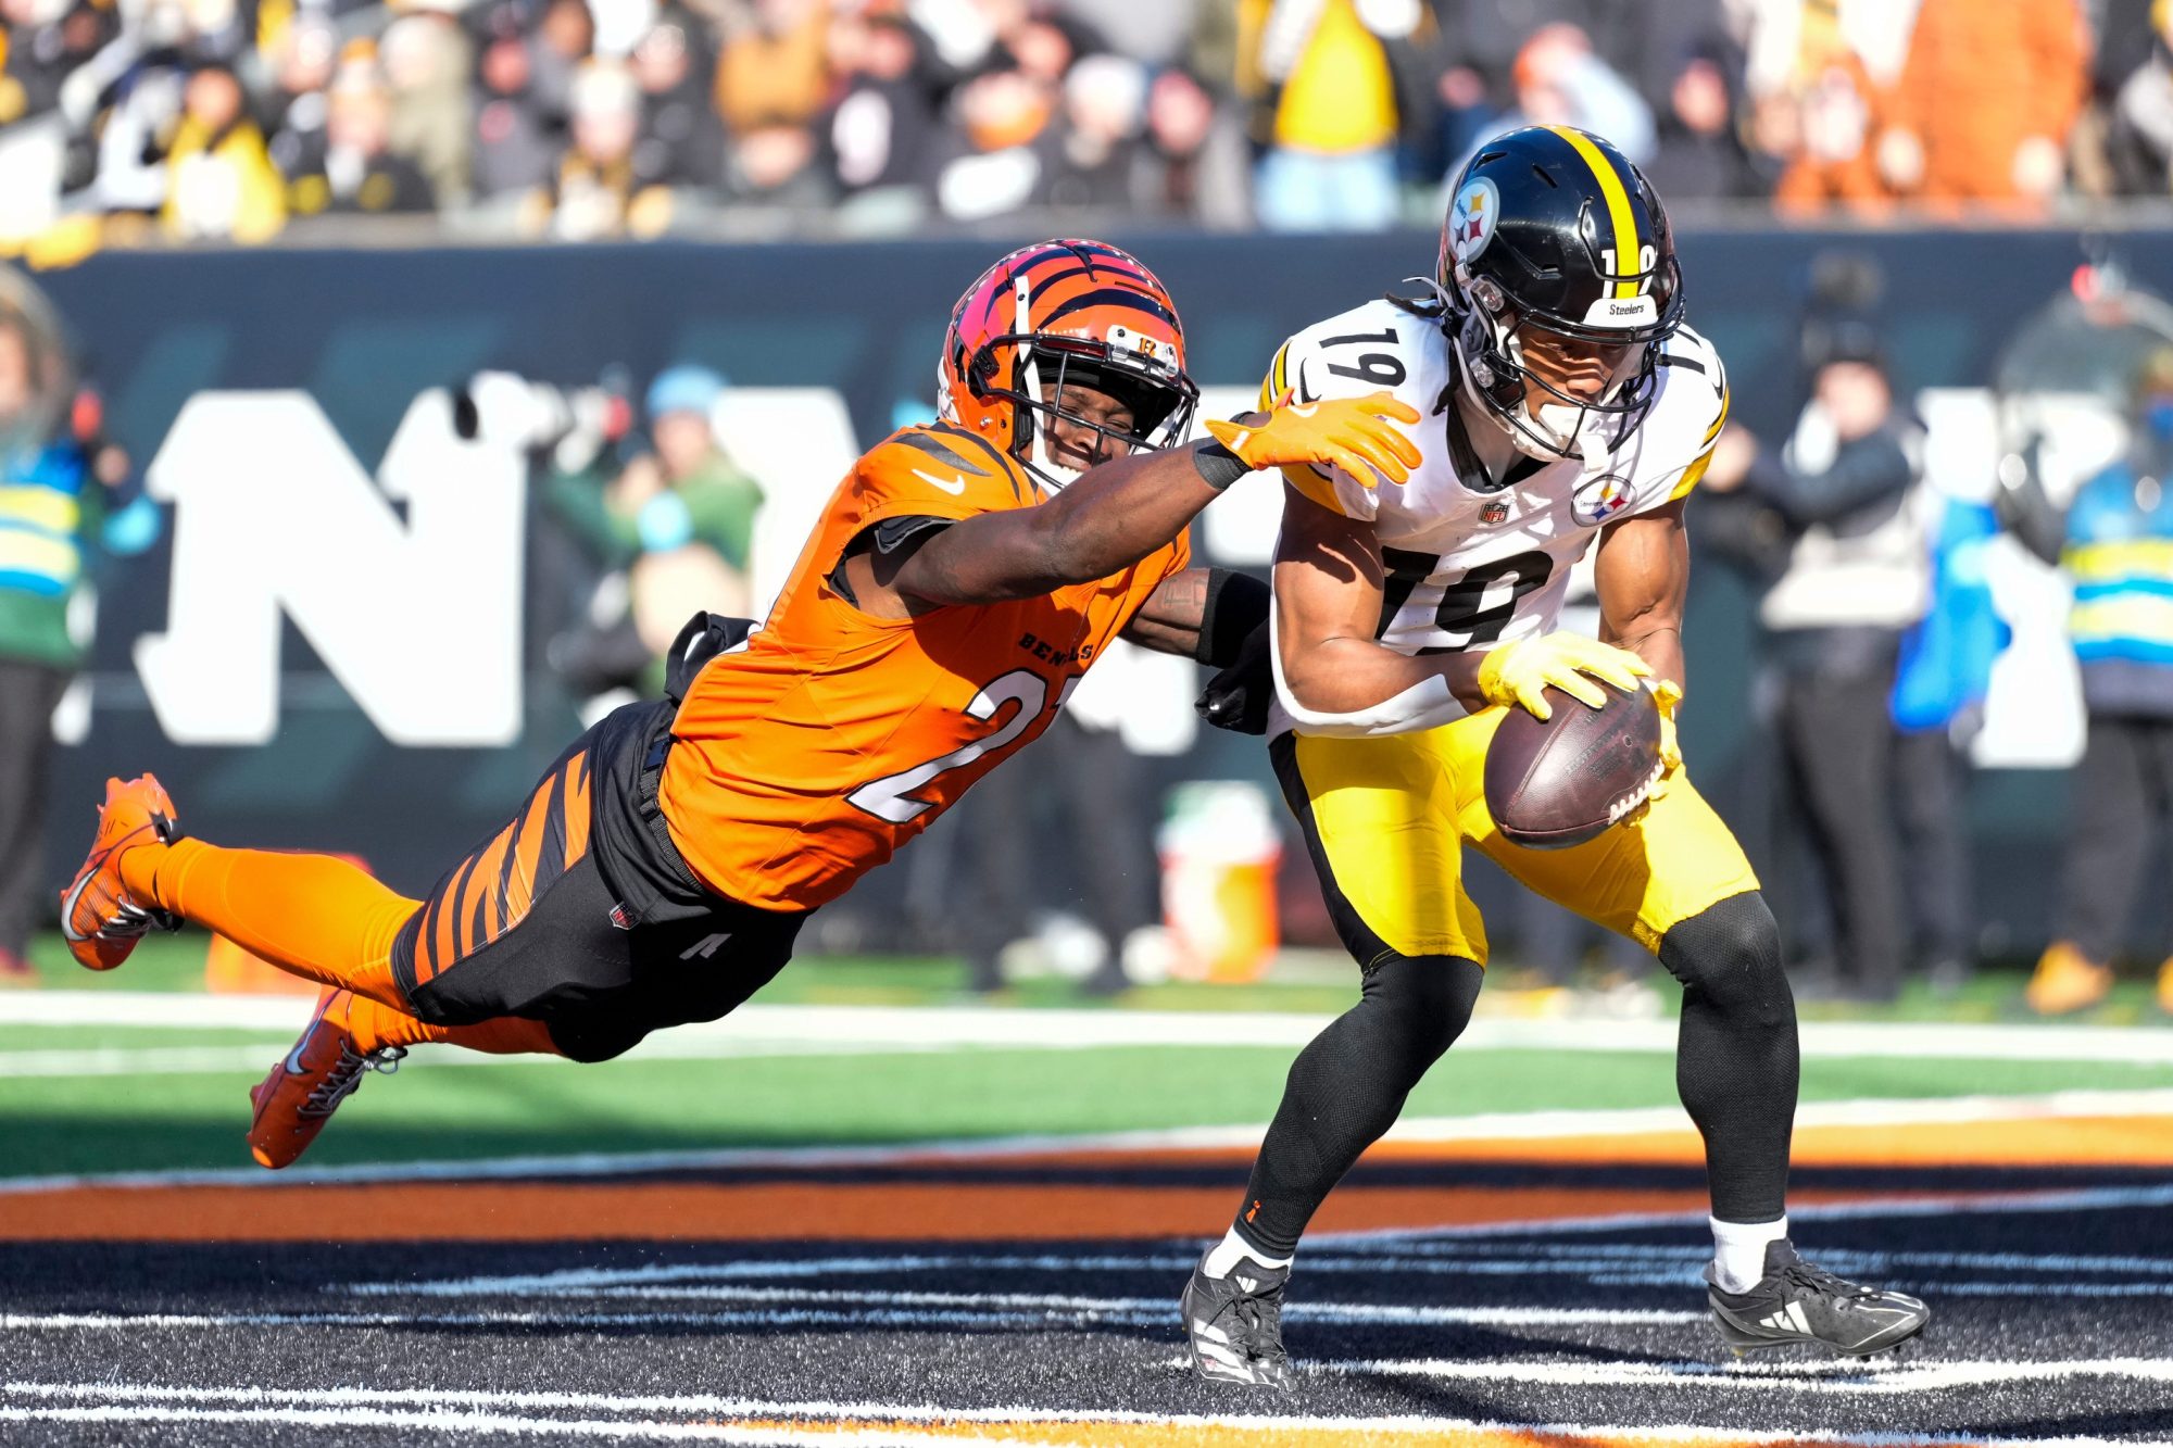
[[[1439,320],[1378,300],[1284,344],[1271,394],[1306,402],[1389,389],[1421,417],[1406,428],[1423,457],[1404,485],[1284,470],[1315,502],[1373,522],[1386,563],[1382,644],[1439,654],[1549,633],[1599,528],[1697,485],[1728,420],[1728,378],[1712,344],[1686,326],[1658,346],[1658,396],[1628,437],[1615,437],[1619,420],[1595,415],[1578,439],[1582,461],[1525,463],[1530,472],[1510,470],[1517,480],[1489,491],[1484,476],[1478,487],[1458,476],[1452,457],[1449,428],[1462,422]]]

